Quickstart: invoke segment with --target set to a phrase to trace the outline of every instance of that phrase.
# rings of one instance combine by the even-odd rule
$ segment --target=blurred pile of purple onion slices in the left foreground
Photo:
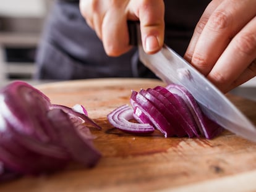
[[[7,174],[53,172],[70,161],[91,167],[100,159],[85,123],[100,127],[85,109],[77,112],[51,104],[45,94],[23,81],[0,91],[0,109],[0,181]]]

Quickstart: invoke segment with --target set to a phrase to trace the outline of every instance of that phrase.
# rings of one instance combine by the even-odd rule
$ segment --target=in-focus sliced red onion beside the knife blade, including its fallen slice
[[[132,91],[130,104],[133,117],[138,123],[128,121],[132,117],[132,109],[128,106],[119,107],[108,115],[109,122],[122,131],[137,133],[135,127],[151,125],[160,130],[164,137],[187,135],[192,138],[202,135],[207,139],[214,138],[223,131],[218,123],[203,114],[192,94],[181,85]],[[116,120],[121,113],[126,112],[129,113],[129,118],[122,116],[125,124]],[[141,128],[140,133],[148,133],[148,130],[143,131],[143,127]]]

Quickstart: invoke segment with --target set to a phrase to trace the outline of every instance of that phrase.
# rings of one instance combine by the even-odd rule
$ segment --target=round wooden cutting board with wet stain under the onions
[[[129,104],[131,90],[164,85],[159,80],[111,78],[37,86],[54,104],[82,104],[103,129],[94,144],[103,157],[92,169],[72,165],[40,177],[22,177],[0,191],[244,191],[256,190],[256,144],[224,131],[213,140],[123,133],[106,119]],[[256,102],[228,95],[256,124]]]

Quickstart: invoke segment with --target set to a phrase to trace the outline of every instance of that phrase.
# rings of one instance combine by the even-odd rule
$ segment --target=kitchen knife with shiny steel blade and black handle
[[[256,127],[215,85],[166,44],[156,54],[145,53],[139,23],[129,21],[128,28],[130,44],[137,44],[139,59],[148,69],[167,84],[184,86],[211,120],[236,135],[256,142]]]

